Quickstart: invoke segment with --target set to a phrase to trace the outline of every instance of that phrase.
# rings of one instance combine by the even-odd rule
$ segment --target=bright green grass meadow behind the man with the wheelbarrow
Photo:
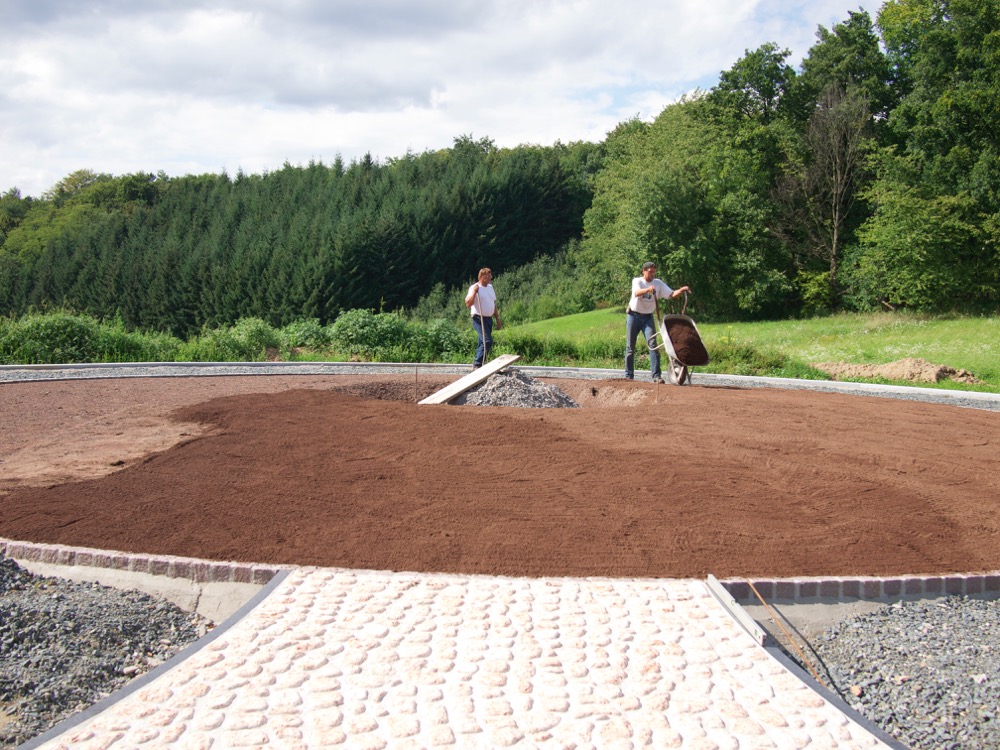
[[[885,364],[918,358],[968,370],[985,382],[982,386],[969,386],[942,381],[937,387],[1000,392],[1000,317],[878,313],[697,325],[713,360],[708,366],[698,368],[700,372],[824,377],[810,363]],[[530,335],[553,343],[572,341],[578,346],[589,343],[593,349],[607,351],[617,347],[624,351],[624,314],[620,310],[594,310],[514,326],[508,335]],[[621,367],[623,358],[622,354],[616,359],[604,357],[578,364]]]

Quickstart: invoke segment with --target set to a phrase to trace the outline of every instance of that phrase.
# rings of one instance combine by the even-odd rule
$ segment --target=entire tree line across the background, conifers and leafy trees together
[[[889,0],[788,58],[748,50],[712,89],[601,143],[462,136],[385,162],[82,170],[37,199],[12,189],[0,314],[69,308],[177,335],[434,314],[484,265],[498,287],[585,309],[623,304],[647,259],[713,319],[995,310],[1000,0]]]

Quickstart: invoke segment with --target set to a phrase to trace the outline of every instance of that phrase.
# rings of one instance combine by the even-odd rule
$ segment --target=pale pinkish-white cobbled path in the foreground
[[[700,581],[305,568],[40,745],[880,748]]]

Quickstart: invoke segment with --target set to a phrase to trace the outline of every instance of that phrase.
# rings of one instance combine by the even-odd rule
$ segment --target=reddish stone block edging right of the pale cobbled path
[[[749,579],[768,601],[861,599],[891,602],[906,597],[1000,595],[1000,571],[946,576],[873,576],[791,579]],[[739,604],[757,604],[746,578],[720,580]]]

